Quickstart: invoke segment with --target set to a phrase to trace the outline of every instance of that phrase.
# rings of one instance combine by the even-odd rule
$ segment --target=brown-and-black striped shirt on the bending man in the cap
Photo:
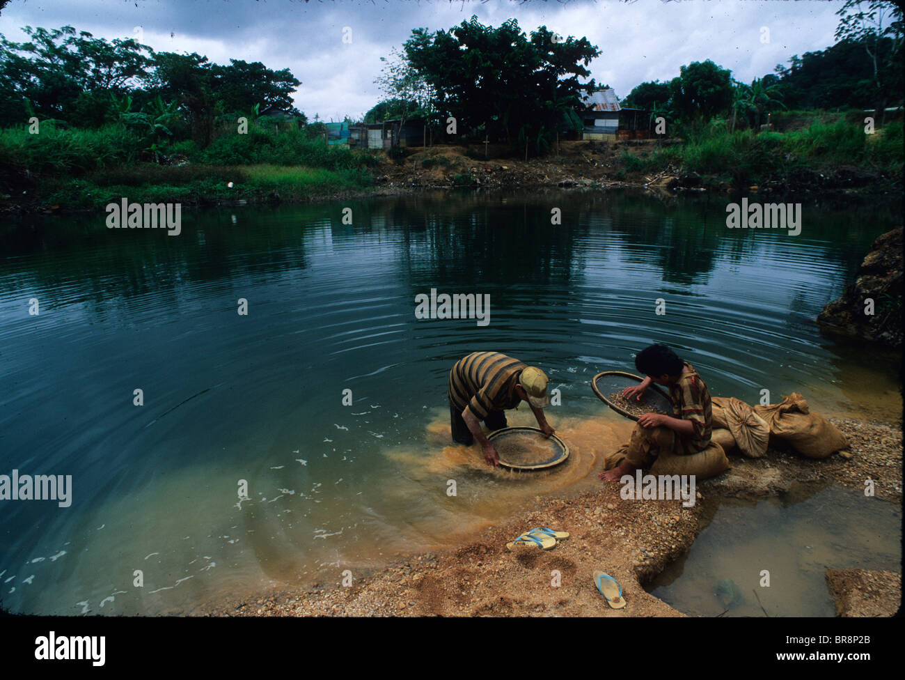
[[[478,420],[491,411],[517,407],[520,399],[513,388],[526,368],[500,352],[472,352],[450,370],[450,403],[460,412],[468,407]]]

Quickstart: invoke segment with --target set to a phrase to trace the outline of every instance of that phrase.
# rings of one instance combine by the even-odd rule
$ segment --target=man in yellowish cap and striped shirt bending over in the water
[[[472,352],[456,361],[450,370],[448,397],[452,439],[466,445],[477,439],[484,458],[495,467],[499,466],[499,456],[481,431],[481,420],[491,430],[506,427],[503,411],[525,400],[544,436],[554,432],[543,411],[550,403],[547,376],[500,352]]]

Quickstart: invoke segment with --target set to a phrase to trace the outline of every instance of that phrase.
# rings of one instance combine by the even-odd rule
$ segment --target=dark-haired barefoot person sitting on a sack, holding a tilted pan
[[[615,481],[649,467],[666,449],[677,455],[697,454],[710,445],[713,412],[710,391],[690,363],[682,361],[665,345],[651,345],[638,353],[635,368],[647,376],[640,385],[623,390],[623,397],[641,396],[652,382],[670,388],[672,417],[662,413],[643,413],[632,439],[624,446],[624,458],[612,470],[600,473],[601,479]]]

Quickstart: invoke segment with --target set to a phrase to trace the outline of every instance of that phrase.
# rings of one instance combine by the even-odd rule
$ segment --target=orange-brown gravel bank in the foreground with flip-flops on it
[[[757,498],[797,483],[839,484],[863,491],[872,479],[881,498],[901,503],[901,426],[833,420],[851,446],[824,460],[769,449],[763,458],[730,455],[729,472],[698,484],[697,503],[626,500],[620,484],[571,498],[538,497],[534,507],[475,535],[457,548],[398,559],[359,573],[350,587],[320,582],[224,601],[214,616],[682,616],[646,593],[643,584],[691,547],[720,497]],[[549,551],[510,552],[506,543],[538,526],[571,537]],[[355,571],[354,568],[352,569]],[[609,608],[592,573],[620,581],[626,607]],[[887,593],[888,595],[888,593]],[[892,607],[889,597],[882,611]],[[896,606],[898,607],[898,599]],[[879,610],[879,609],[878,609]]]

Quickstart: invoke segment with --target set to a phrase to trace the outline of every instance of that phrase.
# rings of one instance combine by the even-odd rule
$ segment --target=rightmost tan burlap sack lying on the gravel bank
[[[767,421],[771,436],[786,442],[808,458],[825,458],[849,445],[836,426],[810,412],[805,397],[797,392],[783,397],[778,404],[757,406],[754,410]]]

